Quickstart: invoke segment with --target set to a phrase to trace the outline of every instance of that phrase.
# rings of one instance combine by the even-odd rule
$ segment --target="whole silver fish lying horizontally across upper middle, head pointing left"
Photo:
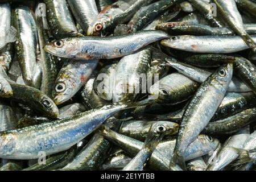
[[[84,36],[56,40],[44,46],[44,49],[55,56],[75,60],[114,59],[130,55],[168,36],[165,32],[158,30],[104,38]]]

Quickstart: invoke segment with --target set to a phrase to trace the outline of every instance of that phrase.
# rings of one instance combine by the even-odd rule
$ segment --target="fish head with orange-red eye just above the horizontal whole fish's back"
[[[87,30],[87,36],[98,36],[106,30],[113,20],[108,15],[100,14],[96,21],[92,22]]]

